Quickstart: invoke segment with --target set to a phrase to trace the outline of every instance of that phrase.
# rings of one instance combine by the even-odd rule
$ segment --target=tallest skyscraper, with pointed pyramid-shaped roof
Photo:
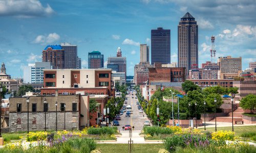
[[[186,68],[186,78],[190,69],[198,68],[198,25],[188,12],[178,25],[178,67]]]

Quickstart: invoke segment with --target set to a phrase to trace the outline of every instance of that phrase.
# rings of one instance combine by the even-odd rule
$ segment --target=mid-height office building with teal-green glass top
[[[88,53],[88,68],[97,69],[104,67],[104,55],[98,50],[93,50],[93,52]]]

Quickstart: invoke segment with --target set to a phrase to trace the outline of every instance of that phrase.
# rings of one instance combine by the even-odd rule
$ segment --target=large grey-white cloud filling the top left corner
[[[0,0],[0,16],[36,17],[55,13],[50,5],[42,6],[38,0]]]

